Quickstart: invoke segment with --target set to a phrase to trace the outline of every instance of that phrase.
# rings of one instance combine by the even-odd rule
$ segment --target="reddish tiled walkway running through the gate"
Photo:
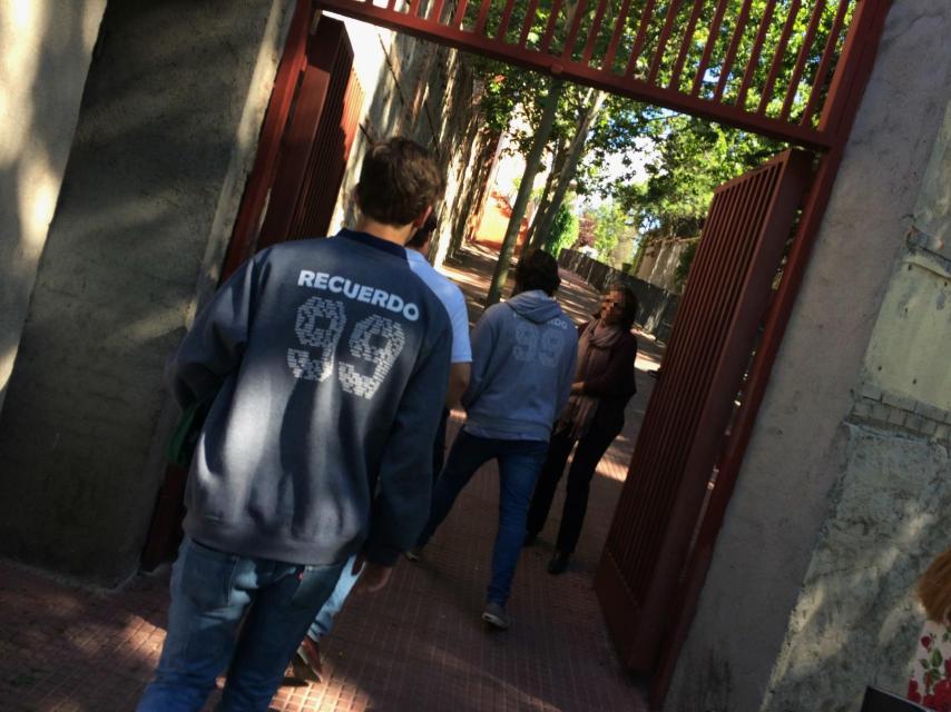
[[[467,293],[473,317],[481,312],[476,298],[486,294],[490,268],[490,255],[479,248],[445,267]],[[597,306],[597,295],[571,275],[565,275],[559,296],[576,319]],[[653,385],[645,370],[659,360],[657,345],[640,343],[640,392],[598,467],[572,566],[558,577],[545,571],[559,493],[548,527],[519,564],[511,630],[489,632],[479,619],[498,508],[492,465],[463,492],[421,563],[401,561],[384,591],[351,597],[323,644],[326,680],[282,688],[273,708],[647,710],[643,690],[617,660],[591,590]],[[453,433],[460,415],[453,416]],[[167,568],[104,592],[0,562],[0,710],[133,710],[161,647],[167,585]]]

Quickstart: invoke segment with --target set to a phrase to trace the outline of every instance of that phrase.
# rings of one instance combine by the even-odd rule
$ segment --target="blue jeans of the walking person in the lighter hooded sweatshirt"
[[[506,605],[509,599],[524,542],[528,505],[547,452],[545,441],[503,441],[460,431],[433,490],[429,522],[416,542],[418,546],[429,542],[476,471],[497,458],[501,478],[499,531],[492,550],[492,580],[486,597],[499,605]]]

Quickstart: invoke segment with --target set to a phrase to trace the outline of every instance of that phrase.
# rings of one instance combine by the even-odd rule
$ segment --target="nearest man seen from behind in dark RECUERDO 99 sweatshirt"
[[[225,669],[217,709],[267,710],[347,557],[380,589],[425,523],[452,332],[403,245],[441,188],[419,145],[373,146],[356,230],[258,253],[196,317],[171,386],[212,405],[140,712],[202,709]]]

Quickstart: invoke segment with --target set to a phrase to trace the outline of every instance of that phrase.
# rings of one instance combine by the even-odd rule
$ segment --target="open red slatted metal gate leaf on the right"
[[[631,668],[654,670],[812,157],[717,188],[595,578]]]

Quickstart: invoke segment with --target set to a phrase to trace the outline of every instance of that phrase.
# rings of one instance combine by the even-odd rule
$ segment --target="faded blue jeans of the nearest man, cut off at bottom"
[[[200,710],[226,668],[218,709],[267,710],[340,570],[246,558],[186,536],[171,571],[165,646],[137,710]]]

